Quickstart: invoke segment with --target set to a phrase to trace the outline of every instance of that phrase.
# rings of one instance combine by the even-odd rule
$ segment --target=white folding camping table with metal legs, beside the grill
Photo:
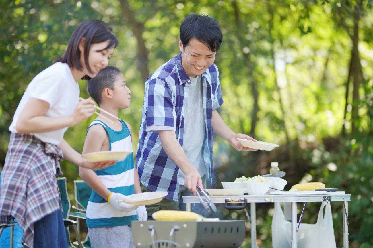
[[[183,203],[186,204],[186,211],[191,211],[192,203],[200,203],[200,199],[197,196],[184,196],[182,199]],[[210,196],[210,199],[213,203],[225,203],[226,206],[227,203],[250,203],[252,248],[258,248],[256,242],[256,203],[291,203],[291,248],[297,248],[297,203],[342,201],[344,204],[343,248],[348,248],[348,201],[351,200],[351,194],[345,194],[343,191],[314,191],[310,193],[291,191],[264,195],[222,195]]]

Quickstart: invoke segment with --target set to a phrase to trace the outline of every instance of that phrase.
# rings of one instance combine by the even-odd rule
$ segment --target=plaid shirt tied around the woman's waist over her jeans
[[[23,242],[34,246],[34,223],[60,209],[57,175],[62,175],[59,146],[44,143],[32,134],[10,135],[1,172],[0,222],[17,219]]]

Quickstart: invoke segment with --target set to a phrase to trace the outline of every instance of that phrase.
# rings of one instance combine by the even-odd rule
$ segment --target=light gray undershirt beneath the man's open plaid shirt
[[[188,101],[184,111],[183,150],[189,162],[194,165],[201,177],[206,174],[206,165],[202,155],[202,145],[206,130],[203,112],[201,76],[191,77]],[[185,174],[179,170],[179,184],[184,185]]]

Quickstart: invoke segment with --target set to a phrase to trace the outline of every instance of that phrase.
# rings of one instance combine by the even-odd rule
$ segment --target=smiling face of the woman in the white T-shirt
[[[91,78],[95,77],[98,71],[105,68],[107,64],[109,63],[109,58],[113,55],[114,47],[105,49],[108,45],[109,45],[109,41],[103,41],[103,42],[94,43],[91,45],[90,51],[88,53],[88,65],[91,69],[91,73],[89,70],[87,70],[85,66],[84,49],[81,50],[80,63],[83,66],[83,71],[89,77]]]

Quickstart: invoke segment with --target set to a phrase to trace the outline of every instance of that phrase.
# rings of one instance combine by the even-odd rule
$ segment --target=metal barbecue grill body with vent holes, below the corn
[[[245,238],[244,220],[133,221],[137,248],[235,248]]]

